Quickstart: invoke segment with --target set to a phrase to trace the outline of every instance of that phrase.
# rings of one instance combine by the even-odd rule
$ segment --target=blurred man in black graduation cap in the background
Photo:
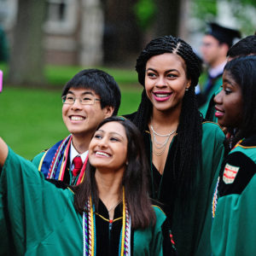
[[[199,110],[206,116],[212,95],[222,84],[222,74],[226,64],[226,55],[235,38],[241,38],[240,32],[217,23],[210,23],[209,30],[202,39],[201,54],[207,64],[207,81],[197,94]]]

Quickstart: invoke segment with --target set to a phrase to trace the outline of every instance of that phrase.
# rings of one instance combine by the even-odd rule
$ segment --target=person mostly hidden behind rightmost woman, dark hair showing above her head
[[[227,61],[231,61],[236,57],[245,56],[245,55],[256,55],[256,36],[247,36],[242,38],[236,44],[234,44],[227,53]],[[212,99],[209,102],[207,108],[206,119],[210,121],[217,121],[215,117],[215,102],[214,97],[218,94],[218,91],[212,95]],[[232,133],[232,132],[231,132]],[[229,134],[231,136],[231,134]]]

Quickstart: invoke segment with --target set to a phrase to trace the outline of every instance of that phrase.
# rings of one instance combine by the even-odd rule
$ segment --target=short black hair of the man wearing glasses
[[[118,113],[121,93],[119,85],[108,73],[99,69],[84,69],[67,82],[61,96],[67,95],[67,91],[72,87],[94,90],[101,97],[102,108],[111,106],[114,108],[113,115]]]

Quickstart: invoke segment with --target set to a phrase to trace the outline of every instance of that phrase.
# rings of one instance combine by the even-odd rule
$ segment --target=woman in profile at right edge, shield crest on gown
[[[256,56],[224,67],[215,96],[219,125],[236,131],[212,201],[212,254],[256,255]]]

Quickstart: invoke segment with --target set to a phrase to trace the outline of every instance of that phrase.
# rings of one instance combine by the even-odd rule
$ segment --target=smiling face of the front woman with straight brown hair
[[[125,128],[119,122],[108,122],[96,131],[89,145],[89,160],[97,170],[124,172],[127,158]]]

